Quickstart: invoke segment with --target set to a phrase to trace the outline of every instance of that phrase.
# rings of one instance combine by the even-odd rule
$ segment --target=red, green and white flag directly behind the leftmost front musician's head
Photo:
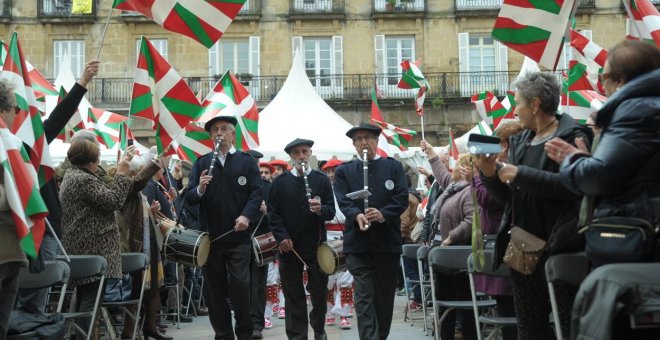
[[[215,84],[202,102],[204,113],[200,122],[217,116],[234,116],[236,126],[236,148],[251,150],[259,146],[259,110],[250,92],[238,79],[227,71]]]

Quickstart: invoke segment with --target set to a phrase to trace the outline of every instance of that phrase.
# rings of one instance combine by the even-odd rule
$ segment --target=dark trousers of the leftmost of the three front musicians
[[[212,243],[209,260],[204,266],[208,289],[209,320],[215,339],[234,339],[231,323],[231,305],[234,307],[236,337],[252,338],[250,317],[250,243]]]

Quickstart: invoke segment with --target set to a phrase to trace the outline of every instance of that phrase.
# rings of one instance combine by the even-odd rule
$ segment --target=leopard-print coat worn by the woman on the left
[[[105,257],[108,278],[121,277],[119,227],[114,211],[124,204],[132,183],[128,177],[117,174],[108,186],[91,171],[73,166],[64,175],[60,187],[64,248],[73,255]],[[72,284],[95,280],[98,278]]]

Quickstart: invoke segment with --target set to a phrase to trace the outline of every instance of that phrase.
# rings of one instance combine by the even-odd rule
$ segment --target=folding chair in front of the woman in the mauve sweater
[[[431,277],[431,295],[433,296],[433,322],[435,325],[435,337],[440,338],[442,322],[453,310],[472,310],[472,300],[438,300],[435,287],[435,272],[445,274],[458,274],[467,272],[467,259],[472,253],[472,246],[439,246],[429,251],[429,275]],[[476,301],[477,308],[490,308],[496,305],[495,300]],[[445,311],[438,318],[439,307]],[[465,320],[463,320],[465,322]],[[463,324],[465,326],[465,323]]]

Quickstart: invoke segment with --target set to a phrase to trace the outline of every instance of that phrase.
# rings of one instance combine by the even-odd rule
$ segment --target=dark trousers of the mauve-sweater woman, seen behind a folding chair
[[[467,274],[447,275],[435,273],[435,295],[438,300],[445,301],[469,301],[472,299],[470,294],[470,280]],[[441,308],[438,317],[444,313]],[[474,323],[474,311],[472,309],[460,310],[461,324],[463,325],[463,340],[472,340],[477,338],[476,325]],[[447,314],[440,327],[440,338],[443,340],[454,339],[454,329],[456,327],[456,310]]]

